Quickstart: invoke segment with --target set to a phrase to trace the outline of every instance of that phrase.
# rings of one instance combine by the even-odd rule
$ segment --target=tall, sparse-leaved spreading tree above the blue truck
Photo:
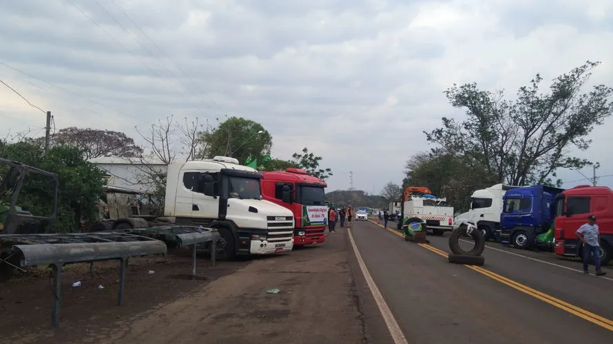
[[[599,63],[588,61],[553,80],[540,93],[539,74],[521,87],[517,100],[505,100],[503,91],[488,92],[476,83],[453,85],[445,94],[453,107],[466,109],[468,118],[443,118],[443,126],[425,132],[437,153],[450,154],[470,167],[483,166],[496,182],[512,185],[561,184],[557,169],[579,169],[588,160],[570,155],[574,146],[588,149],[585,137],[613,114],[608,98],[613,88],[596,85],[581,93]]]

